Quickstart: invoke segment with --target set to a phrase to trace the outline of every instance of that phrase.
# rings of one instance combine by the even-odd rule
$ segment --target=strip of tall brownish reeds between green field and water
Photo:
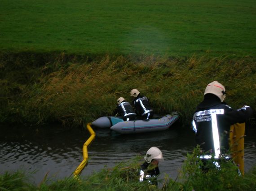
[[[137,88],[149,98],[155,113],[177,111],[181,122],[188,125],[203,100],[204,88],[213,80],[226,87],[226,102],[234,109],[244,104],[256,106],[256,61],[250,57],[106,55],[78,60],[60,54],[52,62],[36,66],[23,59],[14,60],[9,69],[9,62],[1,58],[1,122],[57,121],[80,126],[115,115],[117,98],[123,96],[131,102],[129,92]],[[13,69],[16,65],[19,67]]]

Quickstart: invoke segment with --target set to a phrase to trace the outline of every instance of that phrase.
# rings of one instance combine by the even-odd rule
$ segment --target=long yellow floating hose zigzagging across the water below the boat
[[[95,132],[93,131],[93,129],[91,127],[91,123],[87,124],[87,130],[89,131],[91,136],[84,143],[84,146],[83,146],[83,158],[84,159],[80,163],[80,165],[75,169],[75,172],[74,172],[74,177],[75,178],[78,177],[78,175],[81,173],[81,171],[84,169],[85,165],[87,164],[87,161],[88,161],[88,150],[87,150],[87,147],[90,145],[90,143],[92,143],[92,141],[95,139],[95,136],[96,136]]]

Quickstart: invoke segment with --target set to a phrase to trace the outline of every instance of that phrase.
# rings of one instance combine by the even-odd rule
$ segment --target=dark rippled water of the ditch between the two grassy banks
[[[0,131],[0,173],[25,169],[33,172],[31,181],[36,184],[46,174],[53,180],[71,176],[83,160],[82,148],[89,137],[87,130],[67,130],[60,126],[1,127]],[[89,161],[82,176],[137,155],[143,156],[150,147],[156,146],[164,156],[159,164],[162,177],[166,173],[175,179],[187,152],[192,152],[194,146],[194,133],[189,127],[179,130],[173,126],[137,135],[110,134],[107,129],[94,131],[96,139],[88,148]],[[247,128],[246,135],[245,172],[256,165],[256,128]]]

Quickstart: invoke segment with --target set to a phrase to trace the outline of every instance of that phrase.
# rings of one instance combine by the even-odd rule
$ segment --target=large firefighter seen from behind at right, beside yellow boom
[[[195,141],[203,151],[201,159],[207,160],[214,156],[219,159],[221,154],[229,151],[230,126],[246,122],[251,117],[252,108],[244,105],[240,109],[232,109],[225,104],[225,87],[217,82],[207,85],[203,101],[197,106],[192,120]],[[225,156],[229,159],[229,156]]]

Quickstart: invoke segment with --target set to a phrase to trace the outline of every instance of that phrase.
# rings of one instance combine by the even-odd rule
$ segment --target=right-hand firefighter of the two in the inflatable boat
[[[137,89],[132,89],[130,92],[131,96],[135,97],[132,103],[135,106],[137,115],[141,116],[145,120],[152,119],[154,112],[150,107],[149,100],[146,96],[140,94]]]

